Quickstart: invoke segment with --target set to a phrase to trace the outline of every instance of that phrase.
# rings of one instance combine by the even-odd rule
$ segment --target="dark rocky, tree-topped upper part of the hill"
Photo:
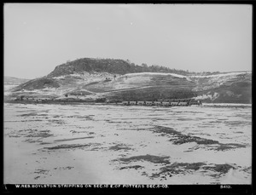
[[[96,76],[101,72],[104,72],[105,74],[107,73],[109,77],[135,72],[170,72],[179,74],[189,73],[182,70],[170,69],[164,66],[147,66],[146,64],[143,64],[143,66],[138,66],[129,62],[128,60],[83,58],[79,60],[68,61],[67,63],[56,66],[55,70],[50,72],[47,76],[33,79],[27,83],[24,83],[16,88],[15,91],[22,89],[33,90],[60,88],[63,86],[63,83],[67,83],[68,85],[72,85],[73,83],[80,83],[79,80],[86,80],[86,77],[90,77],[93,74]],[[90,76],[87,75],[88,73]],[[77,75],[77,77],[75,75]],[[61,81],[58,80],[58,78],[61,78]]]

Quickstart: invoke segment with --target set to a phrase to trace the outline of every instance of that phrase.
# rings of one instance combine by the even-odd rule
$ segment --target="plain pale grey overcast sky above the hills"
[[[42,77],[84,57],[192,72],[252,70],[252,6],[4,4],[4,76]]]

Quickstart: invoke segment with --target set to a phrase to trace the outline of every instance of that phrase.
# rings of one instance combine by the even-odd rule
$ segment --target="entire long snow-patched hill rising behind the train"
[[[151,70],[151,72],[142,72]],[[167,72],[162,72],[166,70]],[[45,77],[12,89],[12,96],[155,100],[191,98],[205,102],[251,103],[252,73],[192,75],[163,66],[135,66],[125,60],[79,59],[56,66]]]

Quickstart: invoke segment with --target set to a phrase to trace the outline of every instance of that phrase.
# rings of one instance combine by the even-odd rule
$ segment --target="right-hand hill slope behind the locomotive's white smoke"
[[[252,103],[252,73],[231,72],[195,79],[197,99],[214,103]]]

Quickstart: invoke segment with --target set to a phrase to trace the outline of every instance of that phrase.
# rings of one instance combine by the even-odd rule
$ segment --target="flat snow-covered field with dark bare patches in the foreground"
[[[251,106],[4,104],[4,183],[251,184]]]

